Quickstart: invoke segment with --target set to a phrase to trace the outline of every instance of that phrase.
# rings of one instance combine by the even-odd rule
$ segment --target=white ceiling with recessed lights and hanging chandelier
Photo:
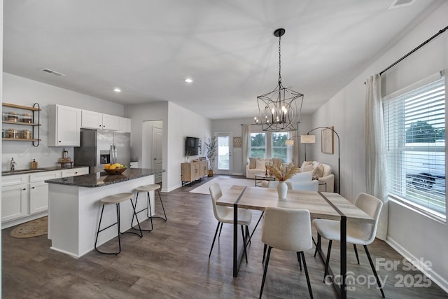
[[[443,2],[4,0],[3,71],[125,105],[253,117],[276,88],[283,27],[282,83],[309,114]]]

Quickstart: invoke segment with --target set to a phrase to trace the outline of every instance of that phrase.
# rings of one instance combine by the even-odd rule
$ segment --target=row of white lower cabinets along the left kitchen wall
[[[8,228],[48,211],[48,183],[45,180],[89,173],[89,167],[79,167],[34,174],[3,176],[1,181],[1,226]]]

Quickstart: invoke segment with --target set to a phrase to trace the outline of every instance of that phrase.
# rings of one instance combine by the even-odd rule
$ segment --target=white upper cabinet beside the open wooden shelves
[[[48,146],[80,146],[81,110],[48,106]]]

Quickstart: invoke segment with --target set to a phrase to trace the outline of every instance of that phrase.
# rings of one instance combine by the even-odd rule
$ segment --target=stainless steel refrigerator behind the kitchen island
[[[99,172],[107,163],[130,167],[131,134],[110,130],[81,129],[80,146],[74,148],[74,165]]]

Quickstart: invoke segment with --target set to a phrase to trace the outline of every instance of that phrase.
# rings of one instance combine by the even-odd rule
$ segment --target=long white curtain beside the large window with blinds
[[[377,230],[377,238],[384,240],[387,237],[388,188],[379,74],[370,76],[365,84],[365,183],[367,193],[384,203]]]

